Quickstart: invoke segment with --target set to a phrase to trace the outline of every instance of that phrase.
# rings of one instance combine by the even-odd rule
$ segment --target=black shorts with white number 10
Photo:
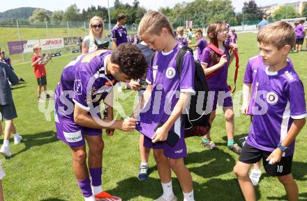
[[[258,150],[257,148],[248,145],[248,143],[245,143],[242,153],[239,156],[239,161],[241,161],[242,163],[253,164],[257,163],[262,159],[264,170],[269,175],[271,176],[289,175],[292,170],[293,155],[282,157],[279,163],[271,165],[269,164],[269,161],[267,161],[267,157],[270,154],[271,152]]]

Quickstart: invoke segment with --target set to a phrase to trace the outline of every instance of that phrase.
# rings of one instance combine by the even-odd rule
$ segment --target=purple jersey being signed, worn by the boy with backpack
[[[140,125],[137,130],[151,138],[159,122],[166,122],[179,100],[180,92],[194,93],[195,63],[193,54],[184,55],[181,77],[176,66],[176,56],[182,47],[176,45],[170,52],[158,51],[153,65],[147,73],[147,83],[152,85],[151,97],[140,113]],[[184,134],[178,118],[172,129],[179,135]],[[181,136],[183,137],[183,136]]]

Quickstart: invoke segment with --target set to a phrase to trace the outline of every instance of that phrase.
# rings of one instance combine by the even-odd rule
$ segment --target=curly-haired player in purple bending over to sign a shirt
[[[112,87],[116,81],[140,79],[146,71],[147,62],[140,49],[125,43],[114,52],[97,50],[82,54],[68,63],[61,74],[55,90],[57,137],[70,146],[73,152],[73,171],[84,200],[121,200],[101,187],[102,129],[106,129],[107,136],[112,136],[114,129],[135,129],[137,120],[134,118],[113,119]],[[102,100],[107,104],[107,117],[104,120],[101,120],[100,115]],[[85,140],[89,145],[89,167],[86,163]]]

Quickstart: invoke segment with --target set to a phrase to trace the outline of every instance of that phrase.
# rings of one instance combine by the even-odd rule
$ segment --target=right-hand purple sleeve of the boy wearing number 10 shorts
[[[287,99],[290,102],[291,118],[306,118],[306,101],[303,83],[300,80],[290,82],[286,86],[286,93]]]

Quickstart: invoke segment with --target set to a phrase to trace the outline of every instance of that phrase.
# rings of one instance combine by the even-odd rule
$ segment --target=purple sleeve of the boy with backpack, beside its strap
[[[188,51],[182,59],[180,91],[194,93],[195,63],[193,54]]]

